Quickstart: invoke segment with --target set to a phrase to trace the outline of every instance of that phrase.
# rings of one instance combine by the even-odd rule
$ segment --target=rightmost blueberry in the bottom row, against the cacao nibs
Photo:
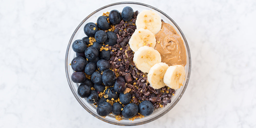
[[[144,116],[149,116],[154,112],[154,106],[150,101],[144,100],[139,104],[139,112]]]

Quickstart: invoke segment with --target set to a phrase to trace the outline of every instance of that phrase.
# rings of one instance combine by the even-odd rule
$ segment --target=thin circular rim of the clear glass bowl
[[[179,97],[177,97],[177,100],[174,101],[174,103],[168,108],[166,109],[165,111],[163,111],[161,114],[157,115],[156,117],[154,117],[153,119],[151,120],[145,120],[145,121],[142,121],[142,122],[137,122],[137,123],[122,123],[122,122],[114,122],[114,121],[109,121],[109,120],[102,120],[100,118],[98,118],[99,115],[96,115],[92,112],[90,112],[91,110],[89,110],[88,108],[86,108],[85,106],[82,105],[82,101],[81,99],[78,97],[78,95],[76,95],[76,91],[72,89],[72,84],[71,84],[71,81],[69,79],[69,74],[68,74],[68,53],[69,53],[69,48],[71,46],[71,41],[74,37],[74,35],[76,34],[77,30],[81,27],[81,25],[90,17],[92,16],[94,13],[104,9],[104,8],[107,8],[107,7],[110,7],[110,6],[114,6],[114,5],[119,5],[119,4],[136,4],[136,5],[142,5],[142,6],[146,6],[146,7],[149,7],[149,8],[152,8],[156,11],[158,11],[159,13],[162,13],[164,16],[166,16],[174,25],[175,27],[179,30],[181,36],[183,37],[184,39],[184,42],[185,42],[185,45],[186,45],[186,48],[187,48],[187,52],[188,52],[188,75],[187,75],[187,78],[186,78],[186,83],[184,85],[184,88],[183,90],[181,91]],[[95,10],[94,12],[92,12],[90,15],[88,15],[86,18],[83,19],[83,21],[78,25],[78,27],[74,30],[70,40],[69,40],[69,44],[68,44],[68,47],[67,47],[67,51],[66,51],[66,56],[65,56],[65,71],[66,71],[66,77],[67,77],[67,80],[68,80],[68,84],[69,84],[69,87],[74,95],[74,97],[77,99],[77,101],[81,104],[81,106],[83,106],[83,108],[85,110],[87,110],[91,115],[93,115],[94,117],[104,121],[104,122],[107,122],[107,123],[110,123],[110,124],[115,124],[115,125],[121,125],[121,126],[134,126],[134,125],[141,125],[141,124],[145,124],[145,123],[148,123],[148,122],[152,122],[158,118],[160,118],[161,116],[163,116],[164,114],[166,114],[168,111],[170,111],[177,103],[178,101],[180,100],[180,98],[182,97],[182,95],[184,94],[186,88],[187,88],[187,85],[188,85],[188,82],[189,82],[189,78],[190,78],[190,72],[191,72],[191,56],[190,56],[190,50],[189,50],[189,46],[188,46],[188,43],[187,43],[187,40],[183,34],[183,32],[180,30],[180,28],[178,27],[178,25],[174,22],[174,20],[172,18],[170,18],[168,15],[166,15],[164,12],[162,12],[161,10],[153,7],[153,6],[150,6],[150,5],[147,5],[147,4],[143,4],[143,3],[138,3],[138,2],[117,2],[117,3],[113,3],[113,4],[109,4],[109,5],[106,5],[106,6],[103,6],[97,10]]]

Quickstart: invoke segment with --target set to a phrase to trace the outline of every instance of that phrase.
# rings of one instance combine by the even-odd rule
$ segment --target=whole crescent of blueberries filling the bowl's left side
[[[112,112],[114,115],[122,114],[125,118],[132,118],[138,112],[148,116],[154,111],[150,101],[143,101],[140,105],[131,103],[131,94],[125,92],[127,81],[122,76],[116,78],[116,73],[110,70],[108,62],[110,50],[102,49],[117,43],[117,35],[108,31],[111,25],[119,24],[122,19],[128,22],[133,18],[133,14],[131,7],[124,7],[122,15],[118,10],[112,10],[108,17],[98,17],[97,24],[87,23],[84,26],[87,37],[75,40],[72,44],[76,57],[71,61],[71,68],[75,71],[71,79],[75,83],[81,83],[77,93],[89,103],[96,103],[100,116],[107,116]],[[92,38],[95,39],[93,44],[90,42]],[[105,95],[100,98],[101,93]],[[107,102],[118,98],[123,105],[120,102],[112,103],[113,105]]]

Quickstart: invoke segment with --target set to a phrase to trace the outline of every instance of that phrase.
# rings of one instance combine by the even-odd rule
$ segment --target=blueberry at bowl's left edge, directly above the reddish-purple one
[[[77,56],[73,58],[73,60],[71,61],[71,68],[76,72],[80,72],[84,70],[86,63],[87,63],[86,59],[84,59],[83,57]]]

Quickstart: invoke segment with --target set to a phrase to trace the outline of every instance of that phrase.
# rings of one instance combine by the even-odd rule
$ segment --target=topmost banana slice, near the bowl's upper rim
[[[137,29],[144,28],[157,34],[162,26],[161,16],[152,10],[143,10],[137,15],[135,24]]]

